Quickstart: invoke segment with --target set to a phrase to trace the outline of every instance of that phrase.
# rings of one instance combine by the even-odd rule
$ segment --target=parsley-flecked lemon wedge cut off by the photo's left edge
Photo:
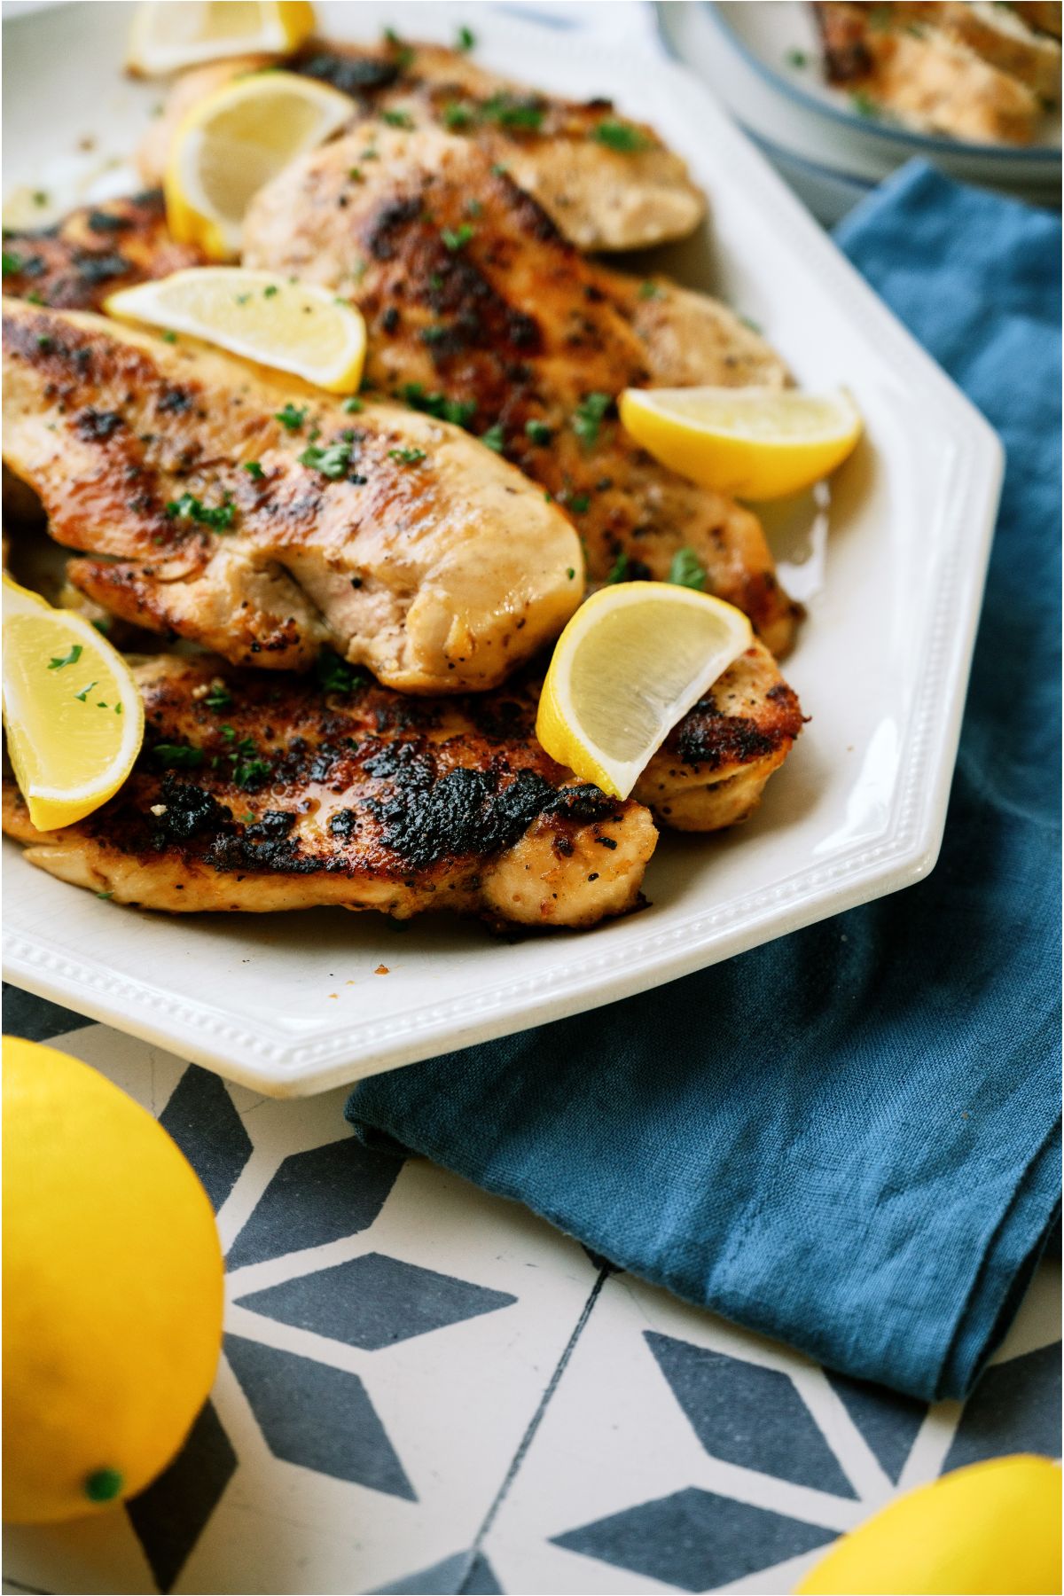
[[[144,702],[96,627],[3,578],[3,721],[16,780],[41,832],[99,809],[129,776]]]

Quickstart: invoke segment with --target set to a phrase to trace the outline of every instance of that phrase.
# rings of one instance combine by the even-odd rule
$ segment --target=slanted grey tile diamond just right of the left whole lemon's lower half
[[[274,1457],[418,1500],[357,1374],[244,1336],[225,1355]]]

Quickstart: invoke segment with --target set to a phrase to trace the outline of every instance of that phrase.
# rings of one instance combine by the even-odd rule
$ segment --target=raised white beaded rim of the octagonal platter
[[[530,24],[507,19],[515,48]],[[538,30],[536,30],[538,32]],[[574,37],[566,38],[573,48]],[[585,48],[622,56],[601,37]],[[646,67],[646,62],[643,64]],[[936,592],[932,646],[912,710],[911,753],[900,779],[898,822],[874,846],[852,846],[830,863],[790,873],[770,889],[734,899],[726,908],[676,919],[665,930],[611,954],[608,938],[566,961],[547,980],[487,985],[453,1004],[428,1004],[365,1025],[348,1025],[308,1041],[278,1039],[268,1020],[233,1023],[217,1007],[195,1002],[161,985],[128,980],[105,958],[72,959],[40,935],[5,926],[5,978],[217,1069],[271,1095],[303,1095],[354,1079],[372,1053],[373,1068],[397,1068],[440,1052],[597,1007],[662,985],[708,962],[732,958],[772,937],[842,913],[873,897],[920,879],[941,843],[946,803],[960,733],[979,600],[994,530],[1003,455],[997,434],[970,401],[927,356],[820,231],[748,139],[723,118],[711,96],[686,69],[654,61],[670,88],[702,109],[729,145],[729,166],[748,192],[786,222],[788,243],[826,275],[836,303],[876,329],[900,375],[919,377],[940,405],[944,436],[964,458],[964,490],[956,519],[968,528],[965,559],[959,549],[943,570]],[[952,624],[951,624],[952,618]],[[933,736],[932,736],[933,733]],[[707,937],[716,938],[707,953]],[[638,969],[633,970],[633,961]]]

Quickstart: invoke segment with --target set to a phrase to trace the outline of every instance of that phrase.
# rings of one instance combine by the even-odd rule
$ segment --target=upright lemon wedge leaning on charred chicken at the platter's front
[[[582,782],[627,798],[681,715],[751,642],[742,610],[710,594],[603,587],[555,645],[536,736]]]

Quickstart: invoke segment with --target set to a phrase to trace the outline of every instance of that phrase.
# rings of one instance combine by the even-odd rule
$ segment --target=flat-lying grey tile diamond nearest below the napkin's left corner
[[[364,1253],[238,1298],[241,1307],[266,1318],[367,1352],[493,1314],[515,1301],[507,1291],[490,1291],[383,1253]]]

